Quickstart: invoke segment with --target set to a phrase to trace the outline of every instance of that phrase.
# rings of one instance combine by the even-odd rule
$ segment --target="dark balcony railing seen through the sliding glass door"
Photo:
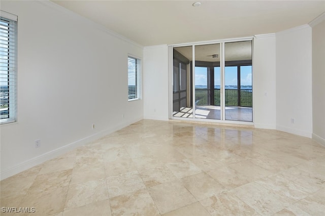
[[[220,89],[214,89],[214,104],[209,102],[211,97],[210,89],[196,89],[195,98],[196,106],[215,105],[220,106]],[[240,99],[238,98],[240,94]],[[226,89],[225,90],[225,106],[239,106],[239,107],[252,107],[252,90],[237,90],[237,89]]]

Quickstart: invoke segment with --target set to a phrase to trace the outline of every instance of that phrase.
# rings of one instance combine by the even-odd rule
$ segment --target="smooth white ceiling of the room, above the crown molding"
[[[325,1],[55,1],[142,46],[274,33],[307,24]],[[201,2],[200,7],[192,7]]]

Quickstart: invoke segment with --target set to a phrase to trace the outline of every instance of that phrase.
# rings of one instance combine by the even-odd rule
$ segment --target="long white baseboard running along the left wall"
[[[142,118],[141,118],[142,119]],[[46,152],[42,155],[39,155],[37,157],[34,157],[34,158],[31,158],[25,162],[22,162],[18,165],[15,165],[11,168],[8,168],[8,169],[5,169],[5,170],[2,170],[0,172],[0,180],[4,180],[4,179],[7,179],[8,177],[11,177],[13,175],[16,175],[18,174],[19,172],[21,171],[24,171],[26,169],[29,169],[33,166],[36,166],[38,164],[41,164],[47,160],[51,160],[57,156],[60,156],[64,153],[67,153],[77,147],[80,147],[80,146],[83,146],[87,143],[90,143],[92,141],[95,141],[95,140],[98,140],[106,135],[109,135],[115,131],[118,131],[119,129],[123,128],[123,127],[126,127],[132,123],[135,123],[141,119],[133,119],[132,121],[129,121],[129,122],[122,122],[120,124],[117,124],[117,125],[114,125],[114,127],[110,127],[110,128],[107,128],[103,131],[100,131],[96,134],[93,134],[91,136],[88,136],[88,137],[85,137],[85,138],[82,138],[80,140],[77,140],[75,142],[72,142],[68,145],[65,145],[65,146],[62,146],[60,148],[57,148],[57,149],[54,149],[52,151],[49,151],[49,152]]]

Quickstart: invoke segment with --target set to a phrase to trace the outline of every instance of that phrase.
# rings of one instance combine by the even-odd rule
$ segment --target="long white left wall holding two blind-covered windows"
[[[143,118],[143,101],[127,101],[127,54],[142,47],[51,2],[1,10],[18,15],[18,122],[1,125],[2,179]]]

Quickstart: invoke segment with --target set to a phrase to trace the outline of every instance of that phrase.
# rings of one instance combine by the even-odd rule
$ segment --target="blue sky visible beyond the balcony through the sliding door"
[[[252,66],[241,66],[241,85],[252,85]],[[237,85],[237,66],[225,67],[225,85]],[[207,85],[207,68],[196,67],[195,84]],[[220,85],[220,68],[214,68],[214,85]]]

